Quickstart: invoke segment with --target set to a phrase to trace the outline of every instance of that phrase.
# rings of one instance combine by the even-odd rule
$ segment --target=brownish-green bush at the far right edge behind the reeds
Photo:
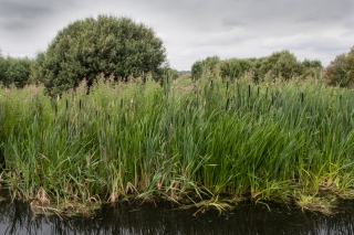
[[[347,87],[354,84],[354,46],[331,62],[325,68],[325,77],[332,86]]]

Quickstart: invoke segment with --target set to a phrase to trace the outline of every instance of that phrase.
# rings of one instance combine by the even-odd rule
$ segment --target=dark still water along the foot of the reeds
[[[354,202],[342,202],[339,213],[301,212],[280,204],[250,202],[219,215],[194,216],[169,203],[104,205],[93,218],[33,216],[27,203],[0,202],[0,234],[354,234]]]

